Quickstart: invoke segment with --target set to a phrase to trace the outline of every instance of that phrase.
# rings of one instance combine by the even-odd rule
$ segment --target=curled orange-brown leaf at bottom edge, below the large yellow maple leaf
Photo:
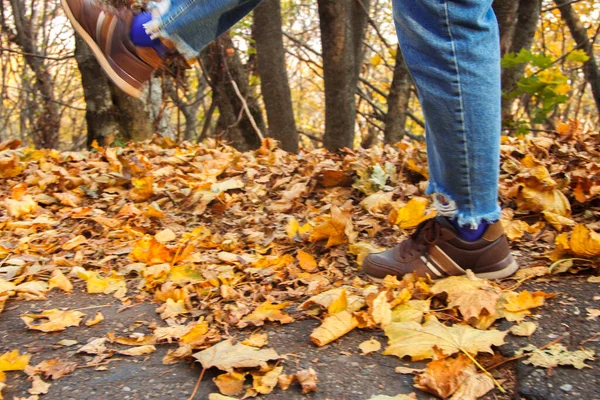
[[[446,399],[475,373],[473,361],[460,353],[456,358],[434,360],[427,364],[425,371],[415,376],[415,387]]]

